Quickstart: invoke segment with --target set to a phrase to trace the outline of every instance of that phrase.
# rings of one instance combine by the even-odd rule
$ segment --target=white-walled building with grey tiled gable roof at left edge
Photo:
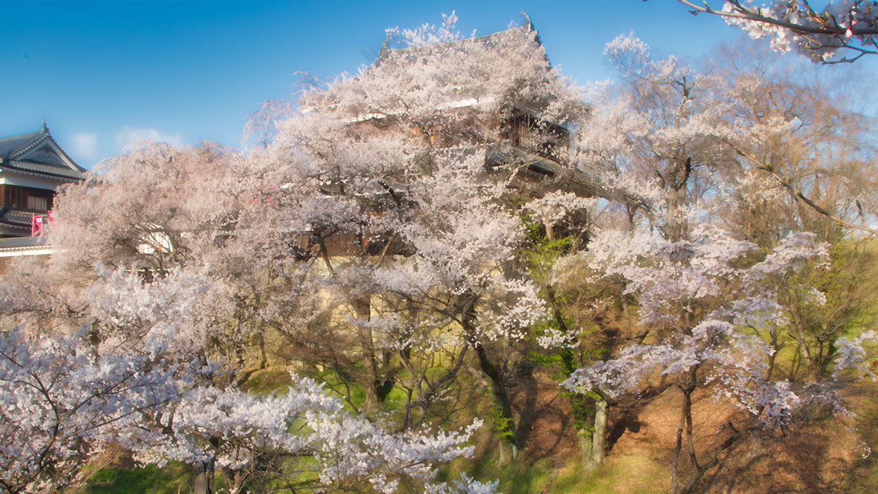
[[[85,169],[45,122],[36,132],[0,138],[0,238],[30,236],[32,215],[52,209],[55,189],[83,179]]]

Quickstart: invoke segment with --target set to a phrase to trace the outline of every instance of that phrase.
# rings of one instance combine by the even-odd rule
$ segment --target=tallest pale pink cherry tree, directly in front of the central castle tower
[[[345,306],[360,308],[349,317],[354,331],[343,332],[359,338],[363,387],[375,395],[368,401],[378,396],[372,382],[391,382],[419,396],[404,419],[416,423],[410,412],[425,417],[474,352],[514,455],[505,367],[510,344],[544,315],[513,262],[523,240],[515,197],[534,188],[534,175],[554,182],[536,163],[563,169],[555,161],[563,143],[534,136],[551,134],[548,122],[579,118],[585,106],[550,68],[529,24],[463,39],[454,20],[391,30],[370,67],[306,92],[299,115],[276,124],[265,156],[285,174],[278,198],[301,212],[299,228],[312,232],[327,282]],[[534,137],[530,155],[503,147],[520,132],[514,124],[529,127],[532,134],[516,135]],[[357,246],[332,258],[326,243],[343,234]],[[375,357],[381,352],[391,356],[387,365]],[[450,364],[432,379],[425,366],[438,355]],[[393,377],[394,363],[406,381]]]

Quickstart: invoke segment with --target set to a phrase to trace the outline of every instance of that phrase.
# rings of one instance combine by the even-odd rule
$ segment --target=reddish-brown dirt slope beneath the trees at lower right
[[[541,374],[523,378],[510,389],[520,415],[525,445],[521,461],[556,469],[541,492],[617,492],[670,490],[670,461],[680,423],[680,392],[666,389],[650,399],[630,399],[611,410],[607,462],[576,489],[553,484],[578,468],[579,448],[565,396]],[[807,425],[747,437],[730,448],[699,491],[723,494],[876,492],[878,472],[867,446],[878,441],[878,386],[860,383],[846,390],[857,418],[815,418]],[[741,411],[707,394],[694,396],[696,448],[702,453],[725,437],[730,418]],[[865,442],[863,442],[865,441]],[[878,446],[878,445],[876,445]],[[866,454],[866,458],[863,455]],[[569,475],[567,475],[569,477]]]

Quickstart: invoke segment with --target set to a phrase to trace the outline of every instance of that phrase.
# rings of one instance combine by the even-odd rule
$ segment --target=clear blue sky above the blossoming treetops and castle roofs
[[[86,168],[144,137],[238,146],[260,102],[290,98],[294,74],[371,62],[385,28],[439,23],[493,33],[527,11],[550,59],[579,83],[611,76],[603,46],[634,31],[659,52],[709,55],[738,30],[673,0],[561,2],[0,2],[0,136],[45,119]]]

